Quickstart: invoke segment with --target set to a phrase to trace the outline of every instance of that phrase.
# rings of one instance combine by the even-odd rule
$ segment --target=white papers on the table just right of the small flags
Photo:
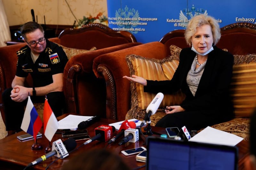
[[[76,130],[77,126],[80,122],[86,121],[92,117],[93,116],[79,116],[79,115],[70,114],[67,117],[65,117],[59,121],[58,129]]]

